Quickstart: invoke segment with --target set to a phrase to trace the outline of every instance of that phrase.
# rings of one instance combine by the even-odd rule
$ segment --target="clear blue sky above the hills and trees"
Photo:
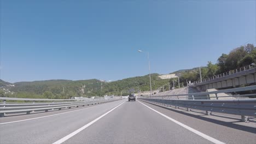
[[[255,1],[1,1],[8,82],[120,80],[217,62],[255,45]]]

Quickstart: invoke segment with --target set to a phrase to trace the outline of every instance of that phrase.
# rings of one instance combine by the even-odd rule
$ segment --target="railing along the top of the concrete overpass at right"
[[[238,69],[235,69],[235,70],[226,71],[225,73],[222,73],[222,74],[207,77],[206,79],[202,79],[202,82],[220,79],[222,77],[234,75],[234,74],[237,74],[237,73],[242,73],[243,71],[247,71],[247,70],[251,70],[251,69],[255,69],[255,68],[256,68],[255,64],[246,65],[245,67],[241,67],[241,68],[238,68]],[[195,81],[193,83],[196,84],[196,83],[201,83],[201,82],[199,80],[199,81]]]

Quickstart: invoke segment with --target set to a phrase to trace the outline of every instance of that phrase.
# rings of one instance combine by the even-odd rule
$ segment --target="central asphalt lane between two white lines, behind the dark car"
[[[64,143],[212,143],[146,106],[126,102]]]

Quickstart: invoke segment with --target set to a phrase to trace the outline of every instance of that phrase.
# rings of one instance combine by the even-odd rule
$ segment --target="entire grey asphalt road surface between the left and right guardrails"
[[[1,144],[255,142],[255,128],[209,122],[140,100],[0,118]]]

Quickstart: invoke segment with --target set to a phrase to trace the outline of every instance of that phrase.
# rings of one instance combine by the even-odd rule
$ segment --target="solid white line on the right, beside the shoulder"
[[[141,103],[140,101],[138,101],[138,102]],[[143,103],[141,103],[141,104],[143,104]],[[145,105],[145,104],[143,104],[143,105],[144,105],[144,106],[147,106],[147,105]],[[218,144],[225,144],[224,142],[221,142],[221,141],[219,141],[219,140],[216,140],[216,139],[214,139],[214,138],[211,137],[211,136],[208,136],[208,135],[206,135],[206,134],[201,133],[200,131],[197,131],[197,130],[195,130],[195,129],[193,129],[193,128],[190,128],[188,125],[185,125],[185,124],[183,124],[183,123],[181,123],[181,122],[178,122],[178,121],[176,121],[175,119],[173,119],[173,118],[171,118],[171,117],[168,117],[168,116],[164,115],[163,113],[152,109],[152,108],[149,107],[149,106],[147,106],[147,107],[148,107],[150,110],[153,110],[154,112],[158,113],[159,115],[161,115],[161,116],[163,116],[163,117],[169,119],[170,121],[172,121],[172,122],[174,122],[174,123],[177,123],[178,125],[181,125],[183,128],[192,131],[193,133],[195,133],[195,134],[197,134],[197,135],[199,135],[199,136],[205,138],[205,139],[208,140],[208,141],[211,141],[211,142],[213,142],[213,143],[218,143]]]

